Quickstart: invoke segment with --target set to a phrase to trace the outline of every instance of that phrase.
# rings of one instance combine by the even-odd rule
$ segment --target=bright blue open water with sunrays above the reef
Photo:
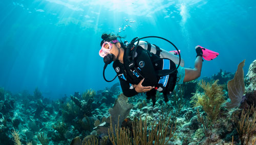
[[[244,59],[246,74],[256,58],[255,14],[255,1],[2,0],[0,87],[31,93],[38,87],[52,99],[111,87],[118,79],[103,80],[98,55],[104,32],[126,40],[164,37],[181,50],[185,67],[194,67],[196,45],[219,52],[203,62],[201,77],[235,72]],[[147,41],[174,50],[163,40]],[[114,76],[109,66],[106,78]]]

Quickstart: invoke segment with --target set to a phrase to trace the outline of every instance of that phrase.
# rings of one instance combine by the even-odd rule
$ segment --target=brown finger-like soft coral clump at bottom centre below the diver
[[[112,119],[111,119],[112,120]],[[119,122],[119,118],[118,118]],[[112,144],[154,144],[156,145],[163,145],[166,144],[174,135],[176,130],[176,124],[173,128],[173,125],[169,129],[169,123],[170,123],[170,117],[168,120],[162,120],[159,119],[159,122],[156,123],[153,122],[151,124],[150,131],[147,130],[147,116],[142,121],[142,118],[140,116],[139,121],[136,120],[132,125],[132,131],[130,132],[127,128],[119,128],[119,123],[115,128],[115,131],[113,130],[113,124],[111,121],[110,129],[109,129],[109,138],[112,142]],[[168,130],[168,131],[167,131]],[[148,135],[147,135],[148,132]],[[132,134],[132,138],[130,137],[130,134]],[[168,134],[168,135],[167,135]],[[148,136],[148,137],[147,137]],[[168,137],[166,140],[165,138]],[[133,142],[133,143],[132,143]]]

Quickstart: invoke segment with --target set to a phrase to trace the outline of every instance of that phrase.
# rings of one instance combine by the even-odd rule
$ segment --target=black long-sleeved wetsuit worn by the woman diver
[[[124,54],[125,52],[126,51],[124,50]],[[159,87],[160,79],[163,79],[163,77],[158,77],[156,74],[157,70],[163,69],[164,61],[162,58],[157,57],[155,54],[148,53],[141,46],[138,46],[134,60],[135,60],[135,67],[137,68],[136,69],[137,71],[127,69],[127,67],[125,67],[124,64],[127,63],[127,59],[125,58],[125,55],[123,57],[124,64],[120,63],[119,60],[116,60],[113,63],[113,68],[115,69],[118,75],[123,94],[127,97],[131,97],[138,94],[135,88],[131,87],[131,85],[139,84],[139,82],[143,78],[144,78],[144,81],[142,82],[142,86],[155,86],[155,87]],[[175,67],[173,65],[169,65],[169,66]],[[128,71],[130,71],[130,73]],[[165,78],[165,80],[163,80],[166,88],[168,88],[168,84],[170,80],[169,78],[170,77],[168,75]],[[148,96],[147,99],[152,99],[152,100],[155,99],[156,89],[152,89],[151,91],[146,92],[146,95]],[[153,106],[154,106],[154,100],[153,100]]]

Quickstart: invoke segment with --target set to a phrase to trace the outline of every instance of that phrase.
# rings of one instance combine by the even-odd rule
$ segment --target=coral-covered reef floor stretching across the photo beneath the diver
[[[224,103],[226,86],[237,75],[222,70],[177,86],[167,103],[158,93],[154,107],[144,93],[132,98],[120,94],[118,83],[58,100],[44,98],[38,88],[32,95],[0,88],[0,144],[254,144],[255,74],[256,60],[245,78],[245,97],[235,105],[240,107],[231,109]],[[197,107],[188,103],[192,96]]]

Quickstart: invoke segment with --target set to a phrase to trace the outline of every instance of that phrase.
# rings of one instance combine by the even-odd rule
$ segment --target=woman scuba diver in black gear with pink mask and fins
[[[103,33],[101,38],[103,40],[100,43],[101,50],[99,55],[104,58],[105,62],[103,69],[104,79],[106,65],[114,61],[113,68],[119,78],[123,94],[131,97],[144,92],[147,95],[147,99],[152,99],[153,106],[156,102],[156,91],[162,92],[164,101],[167,102],[167,94],[173,91],[176,83],[182,84],[200,77],[202,57],[205,60],[212,60],[219,55],[198,45],[196,46],[195,68],[184,68],[182,67],[184,66],[183,60],[181,61],[180,59],[177,62],[177,60],[173,59],[175,55],[172,53],[164,55],[166,51],[164,52],[157,45],[151,45],[148,42],[136,40],[136,38],[130,44],[125,45],[121,41],[123,37],[115,34]],[[177,49],[176,46],[175,48]],[[154,50],[155,52],[152,53]],[[180,56],[180,53],[177,53]],[[170,57],[168,57],[168,54]]]

